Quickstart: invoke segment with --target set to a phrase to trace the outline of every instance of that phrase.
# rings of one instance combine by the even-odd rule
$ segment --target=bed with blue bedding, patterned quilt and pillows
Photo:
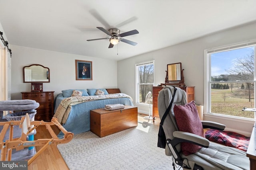
[[[95,95],[96,90],[103,91]],[[82,96],[72,96],[72,92],[82,92]],[[110,93],[108,93],[110,92]],[[133,106],[132,98],[119,89],[62,90],[55,99],[54,117],[62,126],[74,134],[90,131],[90,110],[104,108],[106,104],[123,104]],[[63,138],[63,133],[58,135]]]

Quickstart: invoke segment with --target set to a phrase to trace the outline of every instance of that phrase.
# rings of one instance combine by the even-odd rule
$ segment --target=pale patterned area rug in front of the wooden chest
[[[158,128],[138,122],[102,138],[88,131],[58,149],[70,170],[173,170],[172,158],[157,147]]]

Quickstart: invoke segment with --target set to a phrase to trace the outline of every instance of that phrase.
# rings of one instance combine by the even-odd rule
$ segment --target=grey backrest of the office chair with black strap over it
[[[177,91],[174,96],[174,101],[172,104],[172,108],[170,109],[169,114],[166,116],[164,123],[163,123],[163,129],[164,133],[166,135],[166,139],[174,139],[173,137],[173,132],[178,131],[178,126],[176,123],[176,119],[174,117],[174,112],[173,112],[173,106],[174,105],[184,105],[187,103],[187,96],[186,92],[182,90],[181,88],[176,87]],[[158,112],[160,119],[162,119],[164,112],[168,108],[171,100],[172,100],[172,95],[174,93],[174,87],[173,86],[166,86],[162,90],[160,90],[158,94]],[[176,146],[176,149],[178,152],[180,152],[180,144]],[[171,156],[170,149],[166,146],[165,149],[165,154],[168,156]]]

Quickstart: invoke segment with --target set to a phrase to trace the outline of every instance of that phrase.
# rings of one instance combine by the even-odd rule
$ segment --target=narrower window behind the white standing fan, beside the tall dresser
[[[136,64],[136,103],[149,104],[146,95],[154,86],[154,61]],[[150,96],[150,97],[151,97]]]

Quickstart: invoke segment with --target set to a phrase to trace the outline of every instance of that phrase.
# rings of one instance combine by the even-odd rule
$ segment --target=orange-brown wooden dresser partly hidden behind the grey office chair
[[[153,118],[154,117],[159,117],[159,113],[158,113],[158,94],[160,92],[160,90],[162,90],[164,88],[164,86],[153,86]],[[182,90],[185,90],[186,94],[187,94],[187,102],[191,102],[192,100],[195,99],[194,96],[194,92],[195,92],[195,87],[191,86],[181,86],[179,87]]]

